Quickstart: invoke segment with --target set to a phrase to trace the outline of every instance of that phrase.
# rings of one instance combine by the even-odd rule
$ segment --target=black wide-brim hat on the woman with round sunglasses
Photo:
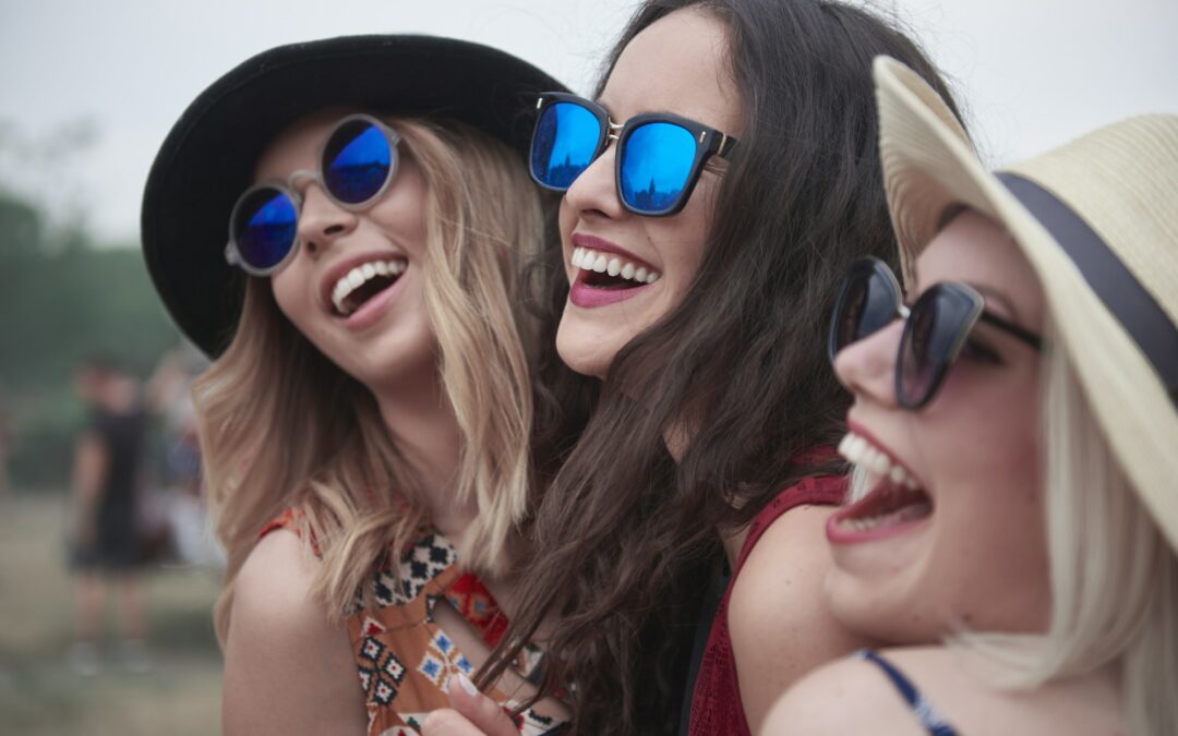
[[[426,35],[353,35],[247,59],[205,89],[164,140],[147,177],[147,271],[177,326],[209,356],[229,345],[245,279],[225,263],[229,217],[264,148],[325,107],[472,125],[521,152],[536,97],[564,89],[497,48]]]

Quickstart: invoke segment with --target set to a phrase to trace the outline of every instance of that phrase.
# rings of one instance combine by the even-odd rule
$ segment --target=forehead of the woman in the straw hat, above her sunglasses
[[[1020,324],[1043,324],[1043,287],[1006,230],[966,210],[953,218],[916,259],[918,291],[939,281],[965,281],[1011,305]]]

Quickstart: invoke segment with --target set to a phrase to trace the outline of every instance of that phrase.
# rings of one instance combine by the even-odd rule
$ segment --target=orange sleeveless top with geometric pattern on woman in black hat
[[[287,510],[270,522],[259,537],[276,529],[298,533],[297,512]],[[319,552],[315,539],[312,549]],[[348,636],[356,657],[359,687],[369,716],[369,736],[408,736],[421,732],[431,711],[450,707],[446,695],[451,675],[468,677],[474,665],[434,621],[434,606],[445,599],[494,648],[508,619],[490,591],[472,572],[458,565],[454,545],[432,526],[422,526],[399,558],[372,573],[373,609],[365,610],[359,594],[346,610]],[[529,647],[516,662],[528,678],[540,664],[541,652]],[[519,701],[491,685],[484,694],[504,710]],[[563,721],[534,709],[515,718],[524,736],[547,734]]]

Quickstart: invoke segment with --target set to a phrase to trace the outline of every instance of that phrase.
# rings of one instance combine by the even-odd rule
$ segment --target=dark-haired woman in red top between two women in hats
[[[861,9],[651,0],[596,101],[541,100],[532,174],[565,191],[557,349],[601,387],[538,508],[543,553],[509,637],[543,634],[547,687],[569,687],[577,732],[674,731],[688,688],[690,732],[749,732],[792,681],[859,643],[821,595],[847,406],[822,346],[846,266],[895,252],[880,53],[945,94]],[[709,556],[732,579],[691,685]],[[477,698],[452,698],[477,721]]]

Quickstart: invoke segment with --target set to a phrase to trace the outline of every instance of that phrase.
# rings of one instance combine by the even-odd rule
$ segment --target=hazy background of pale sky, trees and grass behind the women
[[[803,0],[805,1],[805,0]],[[815,0],[816,1],[816,0]],[[115,351],[146,379],[179,338],[138,251],[167,131],[216,78],[274,45],[432,33],[502,47],[589,93],[629,0],[0,0],[0,735],[210,734],[219,571],[174,556],[146,581],[150,674],[67,664],[66,489],[78,360]],[[1178,112],[1178,0],[899,0],[997,165],[1132,113]],[[172,353],[173,356],[177,353]],[[161,472],[166,418],[146,477]]]

